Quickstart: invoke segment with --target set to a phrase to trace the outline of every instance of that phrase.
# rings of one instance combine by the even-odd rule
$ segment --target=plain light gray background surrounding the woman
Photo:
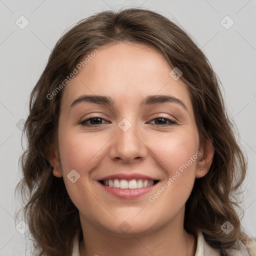
[[[81,18],[140,5],[181,25],[219,76],[229,115],[248,157],[242,223],[246,232],[256,235],[255,0],[0,0],[0,256],[24,255],[24,234],[19,231],[24,231],[25,225],[14,221],[18,207],[14,187],[20,178],[17,161],[22,153],[20,129],[28,113],[28,95],[51,49]],[[25,24],[21,15],[29,21],[24,29],[15,23]],[[223,19],[226,15],[234,21],[228,29],[224,26],[230,26],[231,20]]]

